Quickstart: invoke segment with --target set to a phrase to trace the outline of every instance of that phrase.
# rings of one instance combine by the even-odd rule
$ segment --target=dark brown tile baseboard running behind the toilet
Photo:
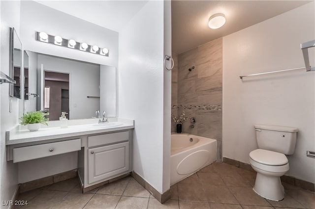
[[[248,163],[240,162],[238,160],[230,159],[227,157],[223,157],[223,162],[230,164],[230,165],[234,165],[236,167],[244,168],[246,170],[250,170],[250,171],[255,172],[252,169],[252,166]],[[285,176],[285,175],[280,177],[280,178],[281,178],[281,181],[284,183],[288,183],[288,184],[300,187],[302,189],[307,189],[307,190],[310,190],[312,192],[315,192],[315,183],[307,182],[304,180],[296,179],[295,177]]]

